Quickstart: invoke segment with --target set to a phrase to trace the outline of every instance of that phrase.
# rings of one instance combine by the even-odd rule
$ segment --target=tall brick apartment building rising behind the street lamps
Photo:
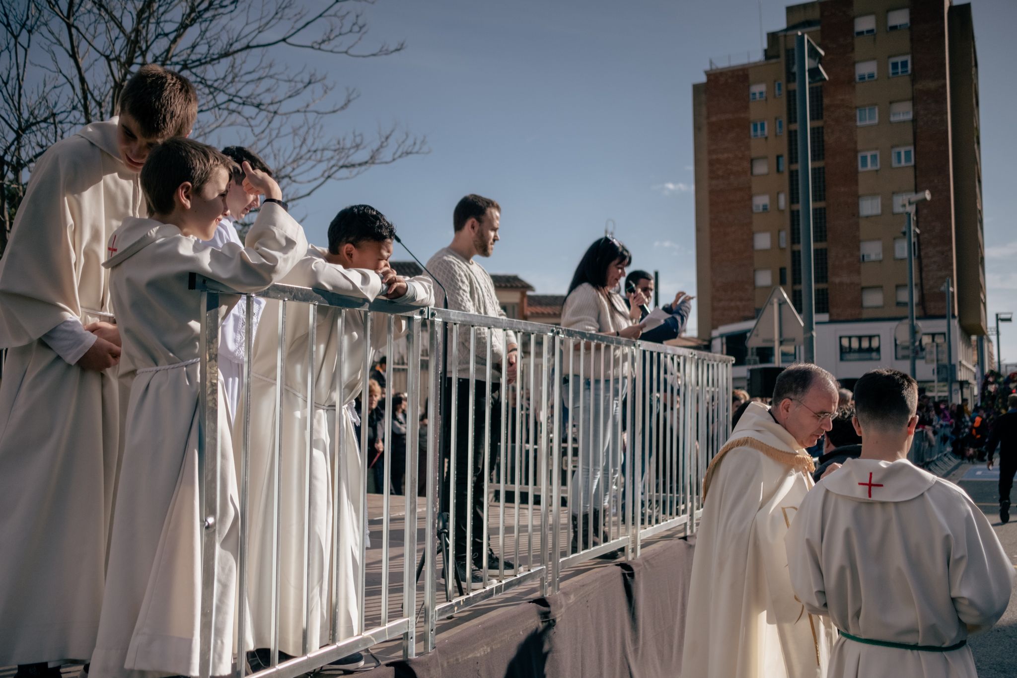
[[[794,38],[826,56],[810,87],[817,362],[850,382],[876,366],[907,369],[894,328],[907,315],[903,199],[918,205],[916,313],[922,344],[945,342],[954,281],[953,356],[967,396],[986,333],[971,6],[949,0],[820,0],[786,10],[759,61],[715,66],[693,85],[701,337],[746,364],[772,349],[745,337],[774,286],[801,304]],[[945,345],[941,346],[941,362]],[[918,380],[935,372],[921,356]],[[941,393],[946,394],[941,384]]]

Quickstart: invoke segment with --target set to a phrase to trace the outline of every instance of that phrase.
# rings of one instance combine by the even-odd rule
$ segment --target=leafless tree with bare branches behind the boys
[[[428,151],[397,124],[343,130],[359,98],[337,60],[397,54],[369,44],[374,0],[20,0],[0,3],[0,255],[33,164],[79,126],[114,114],[140,65],[198,90],[194,136],[240,137],[299,201],[333,180]],[[311,65],[313,64],[313,65]]]

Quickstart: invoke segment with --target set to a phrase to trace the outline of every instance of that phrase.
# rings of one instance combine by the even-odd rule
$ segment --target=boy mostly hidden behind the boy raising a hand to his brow
[[[236,243],[243,246],[237,234],[236,222],[242,220],[252,209],[257,209],[260,199],[257,193],[244,190],[244,173],[240,166],[245,161],[255,170],[273,176],[272,169],[257,153],[243,146],[227,146],[223,155],[236,163],[230,173],[230,187],[226,191],[226,206],[229,213],[219,221],[216,234],[208,244],[222,249],[226,243]],[[251,300],[251,333],[257,332],[257,323],[264,308],[264,300],[255,297]],[[247,333],[247,312],[244,304],[234,306],[219,328],[219,373],[222,377],[224,396],[226,398],[226,414],[233,427],[240,400],[240,391],[244,387],[244,347]]]

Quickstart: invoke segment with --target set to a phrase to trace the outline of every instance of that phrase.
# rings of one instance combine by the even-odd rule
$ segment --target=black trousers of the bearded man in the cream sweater
[[[454,384],[454,381],[456,382]],[[442,493],[441,510],[448,511],[448,499],[456,502],[456,525],[452,526],[454,539],[456,540],[456,559],[466,560],[466,526],[471,519],[471,539],[473,544],[472,557],[479,561],[484,547],[484,502],[487,496],[484,493],[484,455],[488,455],[488,468],[493,469],[497,458],[498,439],[500,438],[501,405],[499,400],[498,387],[500,384],[491,384],[491,402],[487,403],[487,382],[474,381],[473,396],[473,468],[469,468],[467,447],[470,440],[470,380],[469,379],[445,379],[442,392],[442,413],[441,418],[441,450],[442,459],[451,459],[448,445],[452,441],[452,389],[457,388],[456,393],[456,487],[454,491],[448,489],[450,474],[445,471],[442,483],[444,491]],[[491,419],[491,446],[484,447],[484,427],[487,417]],[[441,465],[446,468],[445,464]],[[467,505],[467,490],[473,485],[473,503]]]

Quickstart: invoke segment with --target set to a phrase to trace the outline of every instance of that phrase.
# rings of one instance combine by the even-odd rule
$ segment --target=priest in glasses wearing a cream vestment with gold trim
[[[792,365],[773,407],[754,403],[703,483],[685,617],[684,678],[824,676],[832,632],[806,613],[787,576],[784,535],[813,486],[805,451],[830,430],[833,376]]]

